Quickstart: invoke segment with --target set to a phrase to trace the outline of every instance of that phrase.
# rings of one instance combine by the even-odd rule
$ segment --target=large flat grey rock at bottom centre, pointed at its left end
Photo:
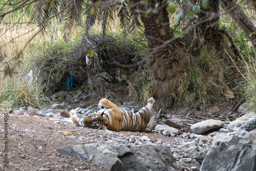
[[[169,146],[86,144],[58,148],[109,170],[180,170]]]

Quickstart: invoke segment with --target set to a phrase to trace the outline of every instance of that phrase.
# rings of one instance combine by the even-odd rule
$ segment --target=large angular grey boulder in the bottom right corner
[[[200,170],[254,171],[255,166],[256,145],[244,143],[228,146],[224,142],[218,142],[209,149]]]

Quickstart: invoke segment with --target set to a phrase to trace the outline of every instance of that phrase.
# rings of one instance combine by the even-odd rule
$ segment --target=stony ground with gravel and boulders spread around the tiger
[[[123,104],[125,105],[119,106],[126,110],[139,109],[130,103]],[[97,105],[94,104],[87,108],[77,108],[76,112],[82,116],[95,110]],[[6,117],[6,112],[2,110],[1,139],[4,142],[7,139],[8,152],[5,151],[6,144],[2,143],[0,170],[6,169],[6,154],[8,170],[256,168],[254,113],[242,114],[241,118],[233,122],[224,123],[218,119],[199,122],[193,124],[186,133],[179,128],[157,125],[156,129],[165,133],[179,134],[181,130],[184,131],[178,137],[165,137],[161,134],[112,132],[79,127],[68,118],[68,112],[63,111],[68,110],[61,105],[53,105],[52,109],[47,110],[23,108],[8,111],[10,114]],[[7,137],[5,123],[8,123]],[[165,123],[172,122],[169,120]]]

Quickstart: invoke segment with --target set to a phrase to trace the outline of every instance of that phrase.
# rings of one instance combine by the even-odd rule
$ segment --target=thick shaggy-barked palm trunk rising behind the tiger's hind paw
[[[162,5],[156,13],[147,17],[145,11],[161,1],[148,1],[147,8],[139,5],[140,16],[148,42],[147,68],[151,77],[152,93],[158,101],[158,108],[170,108],[174,98],[179,98],[178,86],[186,72],[194,64],[194,58],[179,41],[171,41],[173,33],[169,28],[168,12]],[[160,106],[159,106],[160,105]]]

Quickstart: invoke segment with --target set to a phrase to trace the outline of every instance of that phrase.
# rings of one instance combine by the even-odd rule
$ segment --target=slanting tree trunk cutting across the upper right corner
[[[220,0],[221,5],[241,27],[256,48],[256,28],[234,0]]]

